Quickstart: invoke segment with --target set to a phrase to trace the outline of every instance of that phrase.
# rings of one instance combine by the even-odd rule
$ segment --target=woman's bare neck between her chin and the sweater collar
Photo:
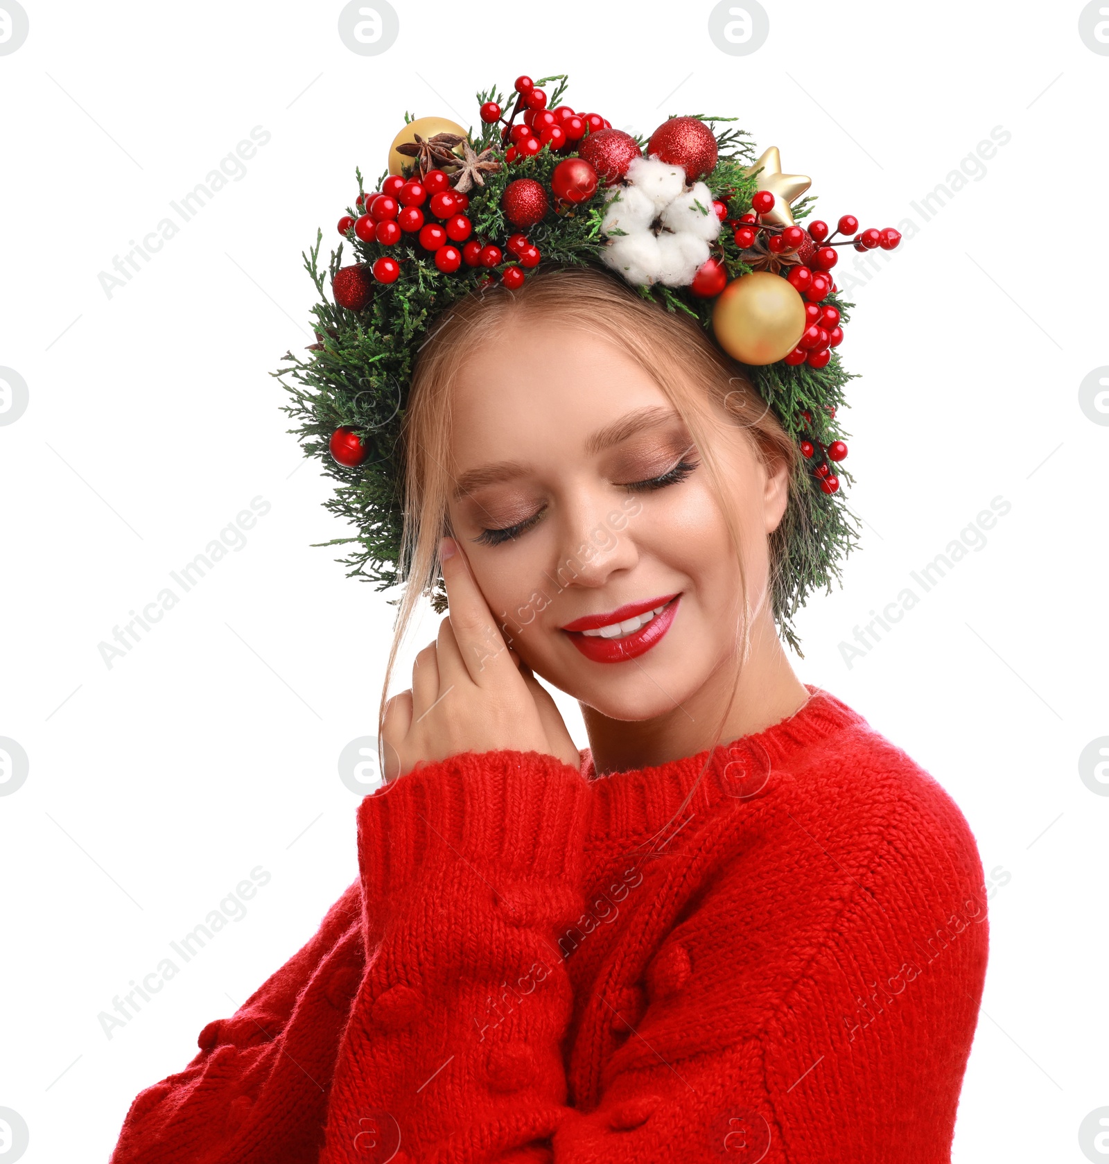
[[[721,666],[681,707],[652,719],[610,719],[584,704],[582,716],[593,765],[603,775],[657,767],[754,734],[794,715],[808,698],[763,608],[752,625],[751,652],[738,682],[734,667]]]

